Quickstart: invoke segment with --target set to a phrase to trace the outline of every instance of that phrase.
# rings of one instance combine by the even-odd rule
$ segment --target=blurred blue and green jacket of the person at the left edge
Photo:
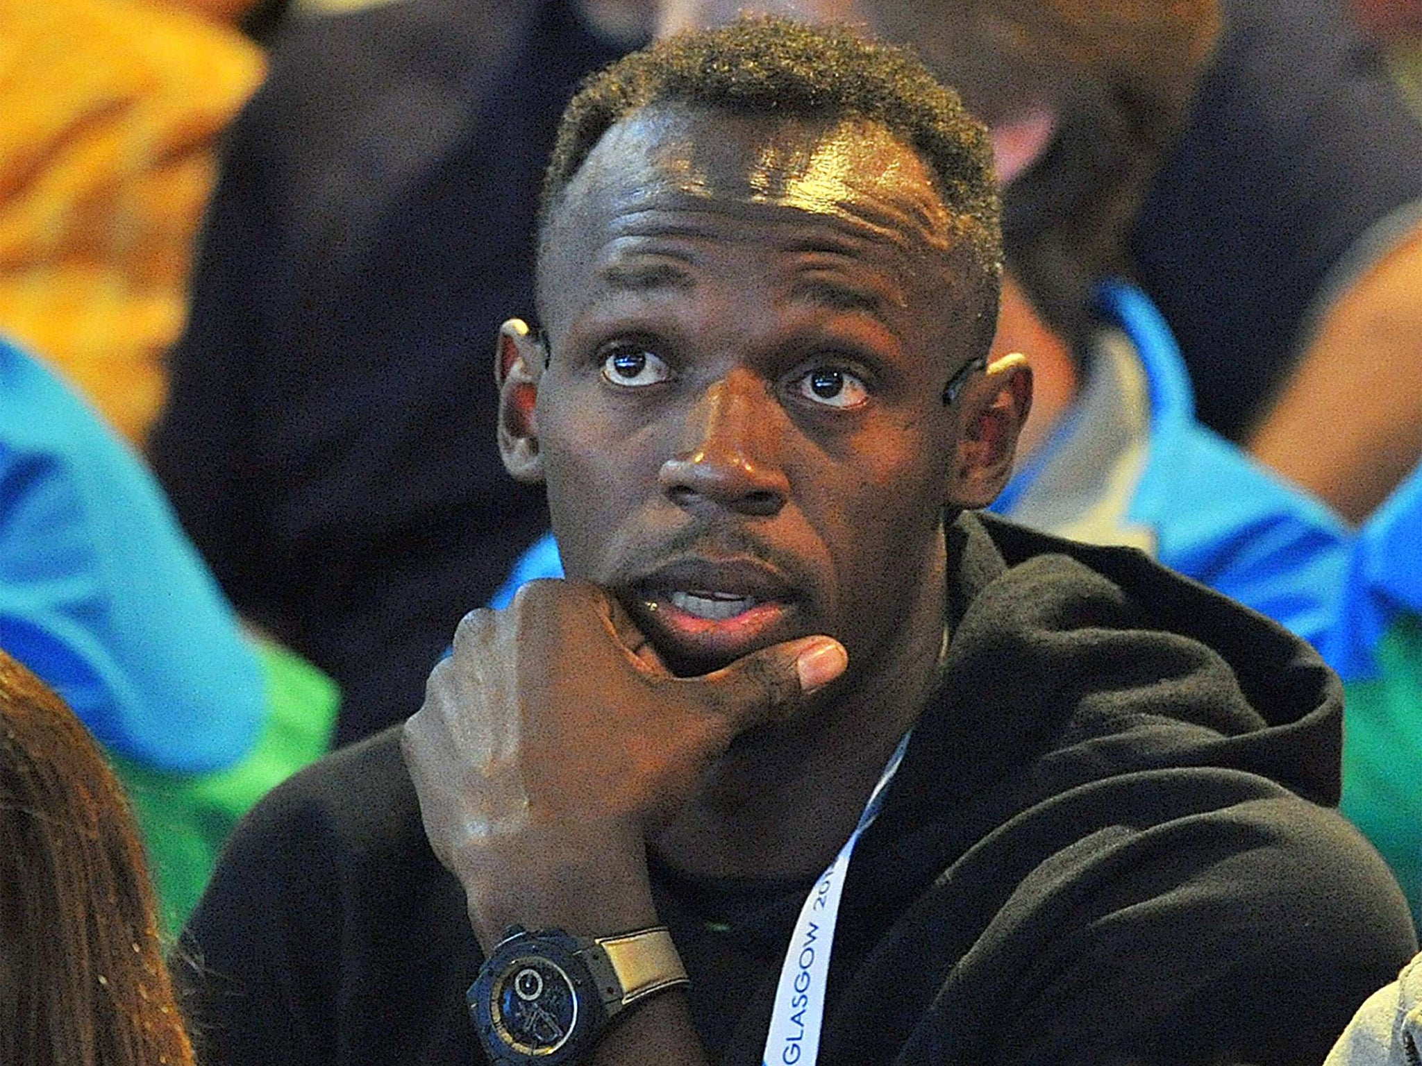
[[[139,458],[3,338],[0,647],[114,758],[168,928],[233,823],[330,742],[331,681],[243,632]]]

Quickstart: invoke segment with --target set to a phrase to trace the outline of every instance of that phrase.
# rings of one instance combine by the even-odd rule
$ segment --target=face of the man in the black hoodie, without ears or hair
[[[823,632],[872,672],[941,630],[941,392],[981,354],[948,233],[866,124],[640,112],[569,186],[540,260],[553,530],[674,671]]]

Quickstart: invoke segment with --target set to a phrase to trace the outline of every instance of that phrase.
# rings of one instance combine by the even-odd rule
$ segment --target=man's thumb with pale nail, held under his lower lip
[[[710,705],[741,732],[789,718],[809,696],[845,672],[849,652],[832,637],[774,644],[698,678]]]

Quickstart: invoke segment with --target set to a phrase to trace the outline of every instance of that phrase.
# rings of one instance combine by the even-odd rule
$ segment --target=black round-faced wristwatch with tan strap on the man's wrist
[[[512,925],[466,996],[491,1063],[577,1062],[633,1003],[690,984],[665,925],[617,937]]]

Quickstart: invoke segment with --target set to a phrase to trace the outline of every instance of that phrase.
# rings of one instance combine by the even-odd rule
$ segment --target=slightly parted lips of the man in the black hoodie
[[[677,559],[637,578],[629,600],[637,624],[677,674],[704,674],[796,635],[799,597],[779,570],[758,559]],[[739,600],[744,610],[735,610]],[[725,610],[735,613],[704,617]]]

